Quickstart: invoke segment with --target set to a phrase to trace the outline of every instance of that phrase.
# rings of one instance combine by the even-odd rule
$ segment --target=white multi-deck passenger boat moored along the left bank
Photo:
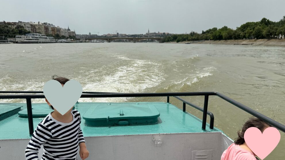
[[[16,36],[16,43],[55,43],[53,37],[47,37],[45,34],[29,33]]]

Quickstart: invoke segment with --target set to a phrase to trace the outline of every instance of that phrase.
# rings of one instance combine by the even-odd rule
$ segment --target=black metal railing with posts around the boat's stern
[[[43,92],[29,92],[29,91],[0,91],[0,93],[43,93]],[[99,92],[82,92],[80,98],[104,98],[104,97],[167,97],[167,102],[169,103],[169,97],[178,97],[178,96],[205,96],[204,98],[204,108],[203,108],[203,119],[202,119],[202,129],[206,129],[206,120],[207,120],[207,114],[208,113],[208,100],[210,95],[216,95],[227,102],[233,104],[234,106],[237,106],[238,108],[244,110],[245,112],[263,120],[264,122],[278,128],[282,132],[285,132],[285,126],[279,122],[276,122],[275,120],[272,120],[271,118],[247,107],[243,104],[236,102],[235,100],[223,95],[219,92],[177,92],[177,93],[99,93]],[[27,109],[28,109],[28,122],[29,122],[29,131],[30,134],[34,132],[33,128],[33,120],[32,120],[32,103],[31,99],[35,98],[45,98],[45,95],[0,95],[0,99],[26,99],[27,102]],[[184,101],[184,102],[183,102]],[[186,104],[186,101],[183,100],[182,102]],[[191,103],[188,103],[190,105]],[[193,105],[190,105],[193,107]],[[197,108],[198,106],[196,106]],[[195,108],[195,107],[194,107]],[[183,109],[184,110],[184,109]],[[211,116],[210,116],[211,117]]]

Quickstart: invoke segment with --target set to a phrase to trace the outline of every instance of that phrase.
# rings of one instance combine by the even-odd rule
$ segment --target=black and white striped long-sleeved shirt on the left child
[[[77,110],[71,110],[73,120],[62,123],[51,113],[38,124],[26,148],[27,160],[39,160],[38,150],[43,145],[42,160],[76,160],[79,143],[85,142],[80,128],[81,117]]]

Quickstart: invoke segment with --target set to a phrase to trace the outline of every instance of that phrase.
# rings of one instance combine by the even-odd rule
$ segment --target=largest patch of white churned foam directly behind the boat
[[[103,80],[83,86],[83,91],[138,93],[145,91],[147,88],[155,87],[165,80],[160,63],[132,60],[125,56],[116,57],[129,62],[118,67],[115,73],[105,75]],[[91,71],[89,74],[93,72],[96,74],[96,71]],[[125,102],[127,99],[126,97],[81,98],[78,102]]]

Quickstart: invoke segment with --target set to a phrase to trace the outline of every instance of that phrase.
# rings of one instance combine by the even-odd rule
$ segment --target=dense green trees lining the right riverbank
[[[279,35],[285,35],[285,15],[279,22],[272,22],[269,19],[262,18],[259,22],[247,22],[237,27],[236,30],[224,26],[220,29],[212,28],[190,34],[173,34],[165,36],[163,42],[182,42],[197,40],[239,40],[239,39],[270,39],[279,38]]]

